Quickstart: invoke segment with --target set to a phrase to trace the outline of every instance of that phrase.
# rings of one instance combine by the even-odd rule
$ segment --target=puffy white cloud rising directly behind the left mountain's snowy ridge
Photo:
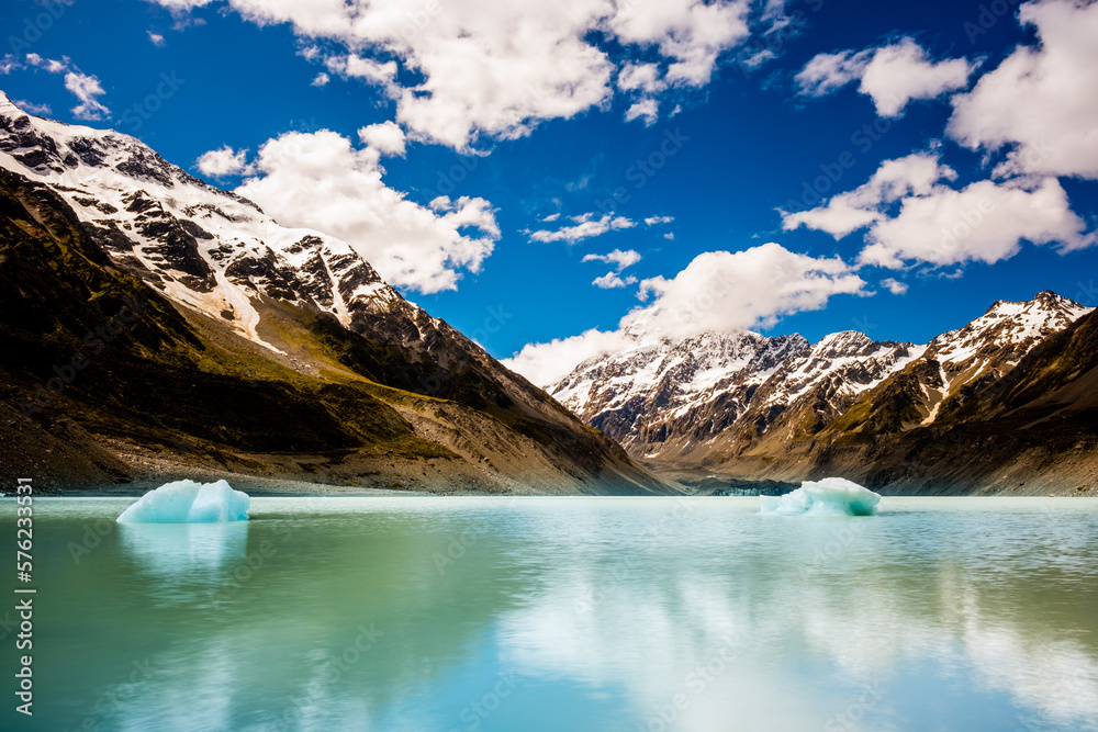
[[[479,272],[500,228],[484,199],[439,196],[429,206],[382,182],[379,154],[330,131],[285,133],[259,149],[257,176],[236,189],[287,226],[350,244],[393,285],[457,289]]]

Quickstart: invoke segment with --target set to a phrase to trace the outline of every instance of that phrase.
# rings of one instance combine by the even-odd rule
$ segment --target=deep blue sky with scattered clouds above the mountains
[[[301,13],[311,12],[307,3],[300,4]],[[572,4],[583,5],[583,0]],[[590,4],[600,3],[591,0]],[[1089,125],[1090,135],[1098,136],[1098,115],[1088,116],[1086,109],[1078,109],[1077,100],[1056,98],[1056,89],[1065,86],[1058,83],[1061,80],[1022,89],[1010,100],[1011,106],[1021,110],[1033,105],[1046,109],[1047,120],[1020,114],[1002,121],[995,92],[1018,85],[998,77],[984,85],[989,88],[984,97],[970,100],[966,126],[957,122],[960,106],[951,101],[952,94],[974,94],[985,76],[1004,76],[999,67],[1011,54],[1020,53],[1019,44],[1030,56],[1049,52],[1051,60],[1076,54],[1083,65],[1062,71],[1050,61],[1047,68],[1055,72],[1093,74],[1085,67],[1093,60],[1086,54],[1094,52],[1087,44],[1073,43],[1071,33],[1073,27],[1086,27],[1094,12],[1083,18],[1084,10],[1071,4],[1034,3],[1022,10],[1032,21],[1023,26],[1018,20],[1019,5],[1007,2],[991,3],[983,16],[984,2],[817,1],[784,8],[776,2],[744,3],[738,18],[743,19],[746,31],[729,31],[713,40],[702,37],[703,30],[714,25],[712,21],[692,26],[684,20],[697,4],[691,0],[668,3],[666,8],[680,9],[682,14],[661,21],[670,30],[645,26],[648,35],[643,37],[638,35],[639,26],[615,25],[616,21],[600,21],[597,27],[586,31],[580,22],[580,32],[558,29],[568,42],[559,47],[565,50],[548,56],[530,52],[529,58],[523,55],[522,44],[517,49],[508,46],[504,57],[496,58],[493,44],[502,42],[492,34],[498,29],[470,21],[474,40],[479,32],[488,34],[479,47],[488,49],[490,60],[462,77],[449,70],[458,64],[439,56],[439,48],[448,47],[448,29],[461,27],[461,19],[455,21],[451,15],[477,13],[477,3],[455,3],[466,5],[464,11],[450,10],[451,5],[438,10],[427,0],[423,4],[426,30],[413,23],[407,33],[414,38],[382,43],[340,29],[341,11],[326,4],[312,16],[329,13],[335,22],[321,27],[311,26],[314,21],[295,15],[298,11],[280,11],[285,14],[274,16],[264,0],[234,0],[232,5],[205,0],[164,0],[163,4],[75,0],[67,5],[43,5],[18,0],[0,10],[0,22],[9,32],[3,48],[7,74],[0,76],[0,87],[13,100],[48,108],[46,116],[134,134],[168,160],[222,187],[235,188],[248,178],[257,179],[249,191],[268,213],[283,223],[314,225],[349,239],[361,232],[369,240],[363,245],[366,251],[379,259],[374,263],[380,270],[393,267],[379,263],[392,254],[383,249],[385,241],[379,240],[389,228],[361,229],[366,224],[357,218],[330,225],[310,218],[310,211],[285,203],[307,199],[307,190],[293,189],[303,184],[295,183],[300,169],[289,164],[274,168],[273,162],[264,168],[256,156],[265,143],[287,133],[311,139],[323,129],[347,138],[348,149],[360,151],[365,143],[357,131],[395,120],[406,137],[403,154],[383,153],[380,162],[377,157],[365,162],[355,158],[354,165],[380,165],[384,172],[377,185],[418,204],[407,212],[417,217],[416,226],[424,222],[449,226],[449,244],[439,246],[444,255],[451,245],[460,252],[440,260],[438,267],[445,271],[430,277],[418,270],[405,275],[382,273],[396,280],[410,300],[472,335],[498,358],[509,357],[528,344],[573,337],[592,328],[614,333],[623,316],[638,306],[662,303],[663,311],[679,312],[675,308],[682,305],[675,299],[703,286],[697,277],[676,279],[695,258],[703,252],[744,252],[766,243],[781,245],[783,251],[776,252],[776,259],[759,259],[761,267],[770,261],[785,267],[781,262],[789,252],[789,257],[803,255],[813,260],[838,257],[845,269],[826,266],[827,286],[816,288],[809,296],[793,292],[788,297],[774,297],[765,285],[754,293],[750,280],[733,279],[732,288],[739,294],[727,300],[718,295],[713,304],[705,301],[703,306],[716,314],[703,320],[768,334],[799,331],[809,339],[854,328],[878,339],[925,342],[942,330],[959,327],[998,299],[1029,299],[1051,289],[1088,305],[1098,304],[1098,292],[1091,285],[1098,280],[1098,252],[1089,246],[1098,227],[1098,161],[1094,160],[1095,144],[1088,143],[1085,134]],[[996,15],[991,9],[1002,12]],[[366,11],[358,18],[369,20]],[[675,46],[676,38],[686,41]],[[559,41],[550,33],[547,43]],[[537,47],[539,43],[531,38],[528,45]],[[927,68],[953,59],[953,74],[941,66],[928,71],[929,80],[919,77],[911,83],[929,91],[916,92],[899,113],[889,116],[881,112],[881,104],[887,102],[877,102],[910,90],[910,85],[904,86],[904,75],[921,71],[904,66],[903,59],[888,66],[885,61],[890,57],[881,49],[901,48],[905,43],[921,49]],[[1093,41],[1089,45],[1094,46]],[[768,47],[771,53],[760,58],[758,52]],[[850,53],[819,59],[821,54],[839,52]],[[1051,52],[1057,55],[1053,58]],[[29,54],[33,56],[30,60]],[[366,75],[374,76],[356,76],[346,60],[340,66],[339,59],[348,55],[367,59]],[[49,60],[57,61],[53,69],[47,66]],[[491,66],[496,60],[500,68]],[[529,115],[518,123],[508,122],[506,114],[492,106],[494,102],[482,100],[506,90],[501,92],[484,78],[497,70],[505,76],[527,61],[533,67],[559,64],[565,69],[559,74],[572,72],[570,65],[582,63],[604,70],[608,64],[612,70],[604,93],[600,95],[597,85],[582,92],[590,93],[594,103],[578,99],[580,92],[574,91],[533,91],[541,95],[517,102],[525,110],[519,116]],[[628,86],[621,81],[625,69],[638,64],[654,65],[650,93],[623,89]],[[819,72],[809,78],[805,69],[813,64]],[[866,70],[871,68],[876,71]],[[326,83],[316,86],[322,72]],[[74,114],[79,100],[66,88],[74,74],[98,82],[91,98],[108,110],[99,113],[101,119],[78,119],[94,116],[94,110]],[[550,81],[557,78],[546,69],[531,74],[549,75]],[[377,75],[390,76],[378,81]],[[591,79],[593,75],[581,69],[574,78]],[[1073,83],[1088,82],[1086,78],[1065,81],[1068,89]],[[860,93],[860,83],[876,89],[876,95]],[[400,97],[410,89],[411,95]],[[87,88],[82,93],[88,95]],[[430,98],[430,103],[416,112],[415,98]],[[627,121],[630,108],[646,99],[658,105],[654,116],[641,114]],[[1056,104],[1077,114],[1067,114]],[[463,127],[455,122],[458,117]],[[951,117],[957,128],[950,126]],[[1066,121],[1051,122],[1054,117]],[[1046,123],[1045,129],[1042,125]],[[876,131],[866,134],[866,125],[871,131],[876,125]],[[1063,125],[1076,128],[1065,131]],[[1073,137],[1072,132],[1078,135]],[[1034,147],[1034,140],[1045,138],[1052,140],[1047,144],[1054,151],[1045,157],[1038,154],[1035,162],[1028,162],[1021,156],[1027,145]],[[1072,149],[1073,145],[1078,149]],[[235,168],[229,166],[233,169],[223,174],[210,174],[209,166],[203,172],[199,158],[225,146],[235,155],[247,153],[234,158]],[[295,150],[300,146],[290,148],[290,153]],[[997,170],[1011,160],[1012,153],[1022,161],[1007,165],[1006,172]],[[806,184],[815,182],[822,189],[821,201],[814,202],[822,205],[836,194],[863,187],[883,161],[912,154],[921,158],[912,160],[911,169],[901,174],[908,181],[905,185],[910,187],[906,195],[888,198],[879,193],[885,190],[879,187],[876,194],[863,189],[858,215],[884,221],[883,228],[862,227],[836,238],[829,232],[839,229],[841,234],[844,224],[836,224],[826,212],[814,219],[814,228],[791,228],[788,221],[783,227],[780,209],[788,209],[791,200],[800,199]],[[645,160],[659,165],[646,170],[638,165]],[[911,172],[915,162],[938,166],[937,178],[928,183],[930,189],[919,192],[911,182],[911,177],[917,177]],[[333,165],[341,164],[337,160]],[[341,172],[333,170],[334,174]],[[356,180],[348,178],[349,184]],[[981,201],[988,202],[988,211],[979,214],[987,221],[978,224],[976,235],[962,237],[971,239],[972,246],[960,248],[968,254],[922,251],[918,227],[928,226],[927,221],[954,221],[956,217],[948,214],[941,214],[944,219],[935,218],[934,212],[950,205],[951,191],[982,181],[987,188],[977,188],[989,198],[976,198],[977,188],[973,188],[970,203],[957,203],[963,212]],[[429,203],[439,194],[449,195],[452,203],[432,214]],[[866,195],[876,199],[865,204]],[[464,204],[456,203],[459,196],[468,196],[471,203],[462,207]],[[910,201],[912,198],[919,200]],[[356,205],[366,211],[383,206],[386,200],[371,194]],[[1031,203],[1041,211],[1034,209],[1024,216],[1017,213],[1029,211]],[[909,205],[910,218],[897,218],[900,206]],[[917,205],[925,213],[933,209],[927,213],[929,218],[915,216]],[[445,212],[450,212],[449,218]],[[560,217],[541,221],[553,214]],[[537,240],[539,235],[533,234],[547,232],[540,237],[552,239],[553,232],[579,223],[570,217],[585,214],[593,222],[608,216],[607,222],[623,224],[571,244]],[[438,222],[432,218],[435,215]],[[646,218],[671,221],[648,225]],[[466,221],[468,225],[459,226]],[[941,227],[929,226],[922,238],[941,239]],[[963,227],[960,230],[966,232]],[[471,243],[455,244],[453,238],[462,235]],[[1034,245],[1030,237],[1045,241]],[[888,255],[899,252],[900,260],[885,267],[879,266],[881,257],[866,261],[863,252],[870,240],[884,241],[881,246]],[[1018,244],[1011,245],[1012,240]],[[1063,252],[1065,245],[1076,250]],[[627,259],[639,255],[639,261],[620,272],[613,262],[583,261],[587,255],[605,256],[613,250],[635,251]],[[943,257],[960,259],[942,261]],[[981,257],[993,261],[979,261]],[[738,272],[744,270],[739,259],[707,259],[698,260],[694,275],[726,264]],[[418,264],[412,261],[411,266],[415,269]],[[593,284],[596,278],[610,273],[629,284],[610,289]],[[653,278],[662,280],[645,286],[645,281]],[[862,284],[851,285],[851,278]],[[888,286],[892,281],[895,292]],[[439,289],[440,282],[449,282],[447,286],[452,289]],[[774,284],[774,289],[788,286],[784,280]],[[645,302],[638,300],[639,290],[648,294]],[[677,326],[666,325],[671,320],[656,320],[663,324],[664,334],[674,335]],[[584,348],[589,348],[573,345],[582,346],[575,353],[585,353]],[[539,360],[572,358],[572,351],[528,353]]]

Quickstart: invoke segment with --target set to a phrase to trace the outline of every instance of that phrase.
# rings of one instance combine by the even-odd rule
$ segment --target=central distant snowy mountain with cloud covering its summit
[[[707,333],[590,359],[548,391],[635,454],[658,459],[749,424],[765,431],[800,402],[822,399],[833,417],[923,348],[855,331],[815,346],[797,334]]]

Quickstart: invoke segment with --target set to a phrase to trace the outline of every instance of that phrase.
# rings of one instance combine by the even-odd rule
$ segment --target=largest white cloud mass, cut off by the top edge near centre
[[[179,13],[209,0],[156,1]],[[603,108],[616,90],[645,97],[630,109],[649,121],[654,94],[708,83],[720,56],[748,40],[752,4],[228,0],[248,21],[289,23],[328,48],[314,56],[329,72],[379,85],[410,134],[457,149]],[[604,49],[603,40],[617,49]]]

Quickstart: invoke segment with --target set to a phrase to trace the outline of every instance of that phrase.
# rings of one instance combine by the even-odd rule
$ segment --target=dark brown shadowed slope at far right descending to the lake
[[[1063,301],[1052,293],[1042,297]],[[1077,309],[1074,303],[1068,307]],[[987,353],[987,346],[977,350]],[[926,383],[933,379],[935,365],[949,379],[951,370],[943,362],[954,352],[946,351],[943,361],[915,363],[866,393],[813,439],[786,446],[782,465],[775,464],[773,452],[768,454],[772,446],[760,446],[733,461],[736,472],[776,476],[839,471],[904,493],[971,493],[976,487],[1095,495],[1098,314],[1089,312],[1050,333],[1024,353],[1017,346],[1008,348],[1013,367],[999,378],[975,368],[960,386],[949,380],[944,399],[935,402],[931,394],[928,414],[923,392],[931,390]],[[977,357],[976,363],[983,358]]]

